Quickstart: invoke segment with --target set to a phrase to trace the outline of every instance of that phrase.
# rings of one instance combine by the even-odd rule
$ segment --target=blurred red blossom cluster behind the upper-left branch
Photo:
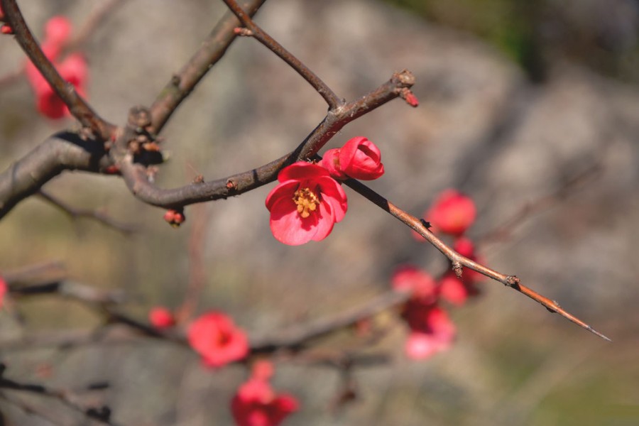
[[[45,38],[40,47],[48,60],[53,62],[60,77],[72,84],[77,92],[84,96],[88,77],[87,61],[84,56],[81,53],[72,53],[60,61],[60,53],[69,41],[71,29],[70,21],[64,16],[50,18],[45,24]],[[61,119],[69,115],[69,109],[65,103],[54,92],[33,62],[26,64],[25,72],[35,92],[36,107],[41,114],[50,119]]]

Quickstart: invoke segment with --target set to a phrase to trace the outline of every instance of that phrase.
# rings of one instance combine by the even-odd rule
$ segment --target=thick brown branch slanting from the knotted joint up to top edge
[[[244,2],[244,10],[253,16],[266,0],[251,0]],[[158,134],[180,103],[195,89],[202,77],[217,63],[237,35],[234,28],[239,21],[233,13],[226,12],[213,28],[207,38],[202,40],[200,48],[182,67],[178,74],[171,77],[162,92],[151,106],[151,133]]]

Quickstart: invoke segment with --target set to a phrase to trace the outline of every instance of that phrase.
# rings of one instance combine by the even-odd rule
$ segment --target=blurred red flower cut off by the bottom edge
[[[277,426],[297,411],[299,404],[293,395],[278,394],[271,388],[268,378],[273,367],[268,369],[266,364],[253,367],[253,376],[240,386],[231,400],[231,413],[239,426]]]

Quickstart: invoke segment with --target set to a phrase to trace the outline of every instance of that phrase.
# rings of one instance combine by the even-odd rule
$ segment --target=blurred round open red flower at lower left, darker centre
[[[221,367],[244,359],[249,353],[249,339],[244,331],[221,312],[209,312],[192,322],[187,337],[206,366]]]

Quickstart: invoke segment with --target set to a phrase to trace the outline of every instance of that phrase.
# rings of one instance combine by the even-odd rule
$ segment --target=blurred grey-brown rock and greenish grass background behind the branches
[[[80,28],[94,6],[21,2],[38,36],[55,14]],[[83,46],[89,102],[117,124],[131,106],[150,105],[223,12],[215,1],[121,2]],[[470,195],[479,209],[470,236],[487,265],[518,275],[613,339],[486,282],[481,297],[451,308],[452,349],[427,361],[405,357],[405,327],[383,316],[389,332],[364,351],[390,361],[355,368],[356,399],[343,407],[334,403],[339,371],[310,357],[278,362],[275,388],[302,404],[285,425],[638,425],[639,1],[270,0],[256,21],[345,99],[395,71],[413,72],[417,109],[400,99],[386,104],[326,148],[371,139],[386,174],[370,186],[417,216],[445,188]],[[10,37],[0,38],[0,58],[0,77],[24,63]],[[165,128],[170,161],[158,182],[175,187],[267,163],[297,146],[325,111],[284,62],[240,38]],[[73,126],[41,118],[26,79],[4,84],[0,167]],[[144,320],[154,305],[182,303],[200,258],[197,312],[224,310],[259,337],[363,304],[388,290],[404,263],[435,276],[447,268],[435,249],[349,190],[349,214],[327,239],[278,244],[263,205],[272,187],[188,207],[186,224],[173,229],[118,178],[64,173],[45,190],[138,231],[70,220],[32,197],[0,222],[0,271],[60,261],[73,282],[124,289],[132,295],[124,309]],[[520,219],[496,234],[513,217]],[[206,371],[190,351],[150,340],[3,347],[102,321],[59,297],[21,300],[13,310],[23,324],[15,312],[0,312],[7,377],[60,388],[108,381],[89,398],[107,403],[121,425],[231,423],[242,366]],[[339,354],[354,342],[344,333],[314,350]],[[18,397],[58,424],[87,424],[55,401]],[[53,424],[5,400],[0,409],[7,425]]]

